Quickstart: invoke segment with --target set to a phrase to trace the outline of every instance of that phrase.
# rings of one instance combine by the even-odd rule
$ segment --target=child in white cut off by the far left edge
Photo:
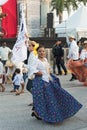
[[[2,88],[0,89],[0,92],[5,91],[5,87],[3,85],[3,70],[4,70],[4,67],[3,67],[3,63],[1,62],[1,57],[0,57],[0,87]]]

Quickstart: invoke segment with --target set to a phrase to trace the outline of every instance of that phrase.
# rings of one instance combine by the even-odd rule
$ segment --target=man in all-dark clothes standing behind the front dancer
[[[64,50],[61,46],[60,39],[55,43],[52,52],[53,52],[53,55],[56,59],[56,65],[58,68],[58,75],[62,75],[61,67],[64,70],[65,75],[67,75],[67,69],[64,65]]]

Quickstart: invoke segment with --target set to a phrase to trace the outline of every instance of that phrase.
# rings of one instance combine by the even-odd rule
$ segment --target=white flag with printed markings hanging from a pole
[[[24,14],[22,11],[22,18],[21,18],[21,24],[19,29],[19,34],[17,41],[13,47],[12,53],[12,61],[13,63],[19,63],[27,59],[27,29],[26,29],[26,23]]]

